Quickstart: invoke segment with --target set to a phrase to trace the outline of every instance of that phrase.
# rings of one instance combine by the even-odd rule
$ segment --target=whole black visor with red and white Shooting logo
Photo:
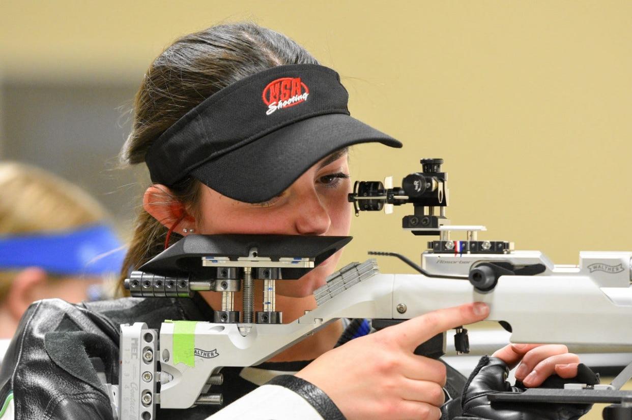
[[[332,69],[272,67],[190,110],[150,146],[145,162],[160,184],[191,175],[238,201],[267,201],[341,148],[369,142],[401,147],[350,117],[348,98]]]

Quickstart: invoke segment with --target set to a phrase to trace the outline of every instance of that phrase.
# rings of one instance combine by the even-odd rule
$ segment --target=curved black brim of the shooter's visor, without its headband
[[[335,151],[359,143],[401,143],[346,114],[301,120],[271,132],[191,171],[222,195],[263,202],[281,194],[305,171]]]

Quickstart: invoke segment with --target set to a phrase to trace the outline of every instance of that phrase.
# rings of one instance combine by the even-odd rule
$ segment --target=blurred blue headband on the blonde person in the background
[[[118,273],[125,249],[104,225],[61,233],[0,236],[0,269],[42,267],[71,276]]]

